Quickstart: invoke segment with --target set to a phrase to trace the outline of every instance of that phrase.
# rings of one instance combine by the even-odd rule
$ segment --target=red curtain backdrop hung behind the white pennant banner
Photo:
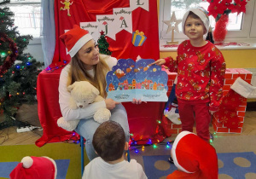
[[[67,16],[67,10],[60,10],[64,6],[61,1],[55,1],[56,43],[52,64],[64,60],[70,61],[70,56],[67,55],[66,48],[59,39],[65,30],[72,29],[74,24],[79,25],[80,22],[96,21],[96,14],[113,14],[113,8],[130,7],[129,0],[71,0],[70,2],[73,2],[69,9],[71,16]],[[136,30],[144,32],[147,40],[143,46],[135,47],[131,43],[132,34],[125,30],[116,34],[116,40],[107,37],[113,57],[136,60],[137,55],[140,55],[144,59],[159,59],[157,1],[148,0],[148,2],[148,11],[141,8],[132,11],[132,32]]]

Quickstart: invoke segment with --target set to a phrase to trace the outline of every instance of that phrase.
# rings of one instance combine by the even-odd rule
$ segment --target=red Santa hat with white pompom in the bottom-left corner
[[[9,176],[10,179],[55,179],[57,167],[48,157],[25,157]]]

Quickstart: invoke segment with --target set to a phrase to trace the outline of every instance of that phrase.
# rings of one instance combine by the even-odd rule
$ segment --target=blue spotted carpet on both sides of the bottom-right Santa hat
[[[256,155],[247,153],[217,153],[219,179],[256,178]],[[164,179],[177,170],[167,159],[170,155],[143,156],[144,170],[148,178]]]

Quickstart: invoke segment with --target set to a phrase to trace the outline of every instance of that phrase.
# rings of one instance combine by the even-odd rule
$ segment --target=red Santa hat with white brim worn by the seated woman
[[[73,57],[85,43],[92,39],[92,36],[88,31],[81,29],[80,26],[74,25],[73,29],[62,34],[60,38],[62,43],[66,45],[67,54]]]

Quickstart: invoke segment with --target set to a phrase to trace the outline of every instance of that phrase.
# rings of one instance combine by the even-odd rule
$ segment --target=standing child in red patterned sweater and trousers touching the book
[[[193,132],[209,142],[211,114],[222,101],[225,62],[222,53],[203,35],[208,32],[209,19],[204,9],[190,9],[183,16],[183,33],[189,40],[177,48],[177,60],[172,57],[155,61],[177,72],[176,96],[182,130]]]

